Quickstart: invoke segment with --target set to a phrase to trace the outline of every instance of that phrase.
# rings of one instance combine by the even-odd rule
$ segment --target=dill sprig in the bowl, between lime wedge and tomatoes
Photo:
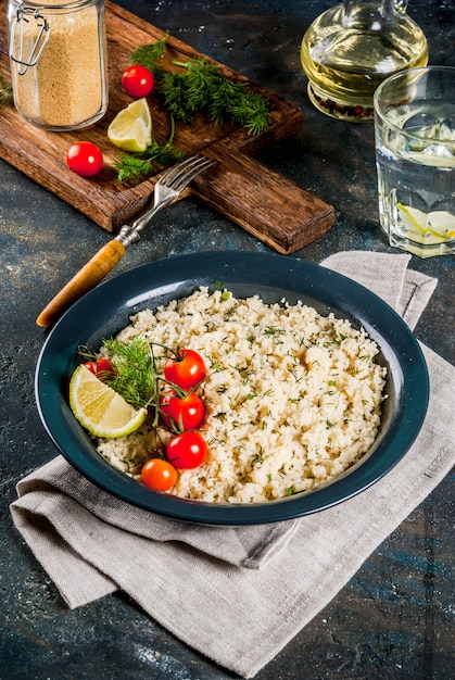
[[[128,344],[116,338],[103,340],[113,354],[115,373],[106,383],[121,394],[135,408],[159,406],[159,373],[153,351],[148,340],[135,336]]]

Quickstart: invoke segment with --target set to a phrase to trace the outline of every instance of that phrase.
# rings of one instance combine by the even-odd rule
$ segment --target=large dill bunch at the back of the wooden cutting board
[[[173,64],[182,71],[162,68],[160,60],[165,53],[166,39],[167,35],[157,42],[141,46],[134,52],[131,61],[152,71],[164,108],[173,116],[188,123],[197,111],[201,111],[215,123],[228,121],[245,127],[251,135],[267,129],[270,124],[267,100],[244,83],[225,77],[206,58],[174,61]]]

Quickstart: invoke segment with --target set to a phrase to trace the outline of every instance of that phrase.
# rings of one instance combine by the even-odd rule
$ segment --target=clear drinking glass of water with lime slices
[[[420,257],[455,252],[455,67],[412,68],[376,90],[379,218]]]

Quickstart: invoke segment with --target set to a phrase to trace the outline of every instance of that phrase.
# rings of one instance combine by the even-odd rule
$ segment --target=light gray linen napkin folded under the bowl
[[[414,328],[437,281],[407,269],[409,259],[347,252],[323,264]],[[180,640],[252,678],[452,468],[455,368],[422,350],[431,396],[419,437],[389,475],[336,507],[271,527],[180,525],[126,506],[59,456],[17,484],[13,520],[69,607],[122,589]]]

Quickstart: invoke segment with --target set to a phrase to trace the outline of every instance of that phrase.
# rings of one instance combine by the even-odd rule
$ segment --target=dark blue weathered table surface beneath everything
[[[371,124],[331,119],[312,108],[299,59],[302,36],[333,2],[303,0],[121,0],[119,4],[298,104],[302,130],[260,160],[336,209],[336,225],[295,253],[319,262],[341,250],[393,251],[378,226]],[[454,0],[414,0],[430,63],[455,64]],[[1,112],[0,112],[1,115]],[[4,680],[226,680],[216,667],[116,593],[76,610],[12,525],[15,484],[55,455],[38,417],[34,372],[45,331],[35,318],[108,235],[0,162],[0,678]],[[202,202],[160,213],[116,273],[169,254],[267,252]],[[410,266],[439,279],[416,335],[455,362],[454,256]],[[350,583],[258,675],[258,680],[453,678],[453,475],[366,561]]]

